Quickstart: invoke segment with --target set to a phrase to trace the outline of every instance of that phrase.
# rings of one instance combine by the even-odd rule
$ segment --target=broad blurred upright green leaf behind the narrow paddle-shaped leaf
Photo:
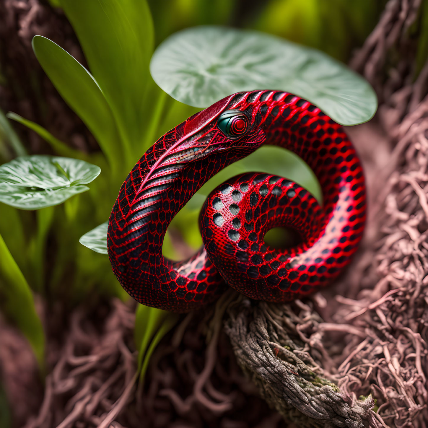
[[[150,80],[153,23],[146,0],[61,0],[122,137],[139,141]],[[152,100],[150,100],[152,101]]]

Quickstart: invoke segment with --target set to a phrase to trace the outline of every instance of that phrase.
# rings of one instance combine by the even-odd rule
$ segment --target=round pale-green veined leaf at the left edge
[[[21,156],[0,166],[0,202],[23,210],[58,205],[89,190],[100,168],[57,156]]]

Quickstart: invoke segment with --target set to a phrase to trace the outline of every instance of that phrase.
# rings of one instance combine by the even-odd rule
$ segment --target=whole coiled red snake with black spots
[[[163,258],[175,214],[214,174],[263,144],[289,149],[309,164],[322,207],[285,178],[241,175],[205,202],[199,253],[186,262]],[[319,290],[343,270],[365,216],[363,169],[342,127],[287,92],[241,92],[190,117],[143,155],[113,206],[107,247],[119,282],[148,306],[187,312],[228,285],[253,299],[286,302]],[[277,226],[295,229],[301,243],[270,249],[263,237]]]

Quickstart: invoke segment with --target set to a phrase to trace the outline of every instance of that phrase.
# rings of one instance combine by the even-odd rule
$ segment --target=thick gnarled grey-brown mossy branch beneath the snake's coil
[[[269,405],[299,427],[383,426],[372,410],[371,395],[352,401],[324,377],[298,329],[322,320],[299,303],[252,304],[244,299],[229,308],[226,333],[243,371]]]

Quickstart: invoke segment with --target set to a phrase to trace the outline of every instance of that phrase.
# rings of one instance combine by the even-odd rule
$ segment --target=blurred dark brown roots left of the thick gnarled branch
[[[206,313],[181,318],[156,349],[143,391],[135,382],[134,303],[114,300],[96,310],[75,310],[65,337],[51,336],[48,360],[53,369],[43,401],[33,403],[33,414],[16,426],[284,427],[281,416],[242,375],[222,332],[224,313],[234,297],[235,293],[225,294]],[[10,346],[8,341],[4,345]],[[25,349],[22,343],[18,346]],[[0,354],[0,362],[1,358]],[[30,387],[17,388],[17,379]],[[21,402],[14,410],[24,407],[28,416],[30,406],[22,402],[35,391],[34,380],[22,380],[16,370],[3,373],[3,380],[11,403]]]

